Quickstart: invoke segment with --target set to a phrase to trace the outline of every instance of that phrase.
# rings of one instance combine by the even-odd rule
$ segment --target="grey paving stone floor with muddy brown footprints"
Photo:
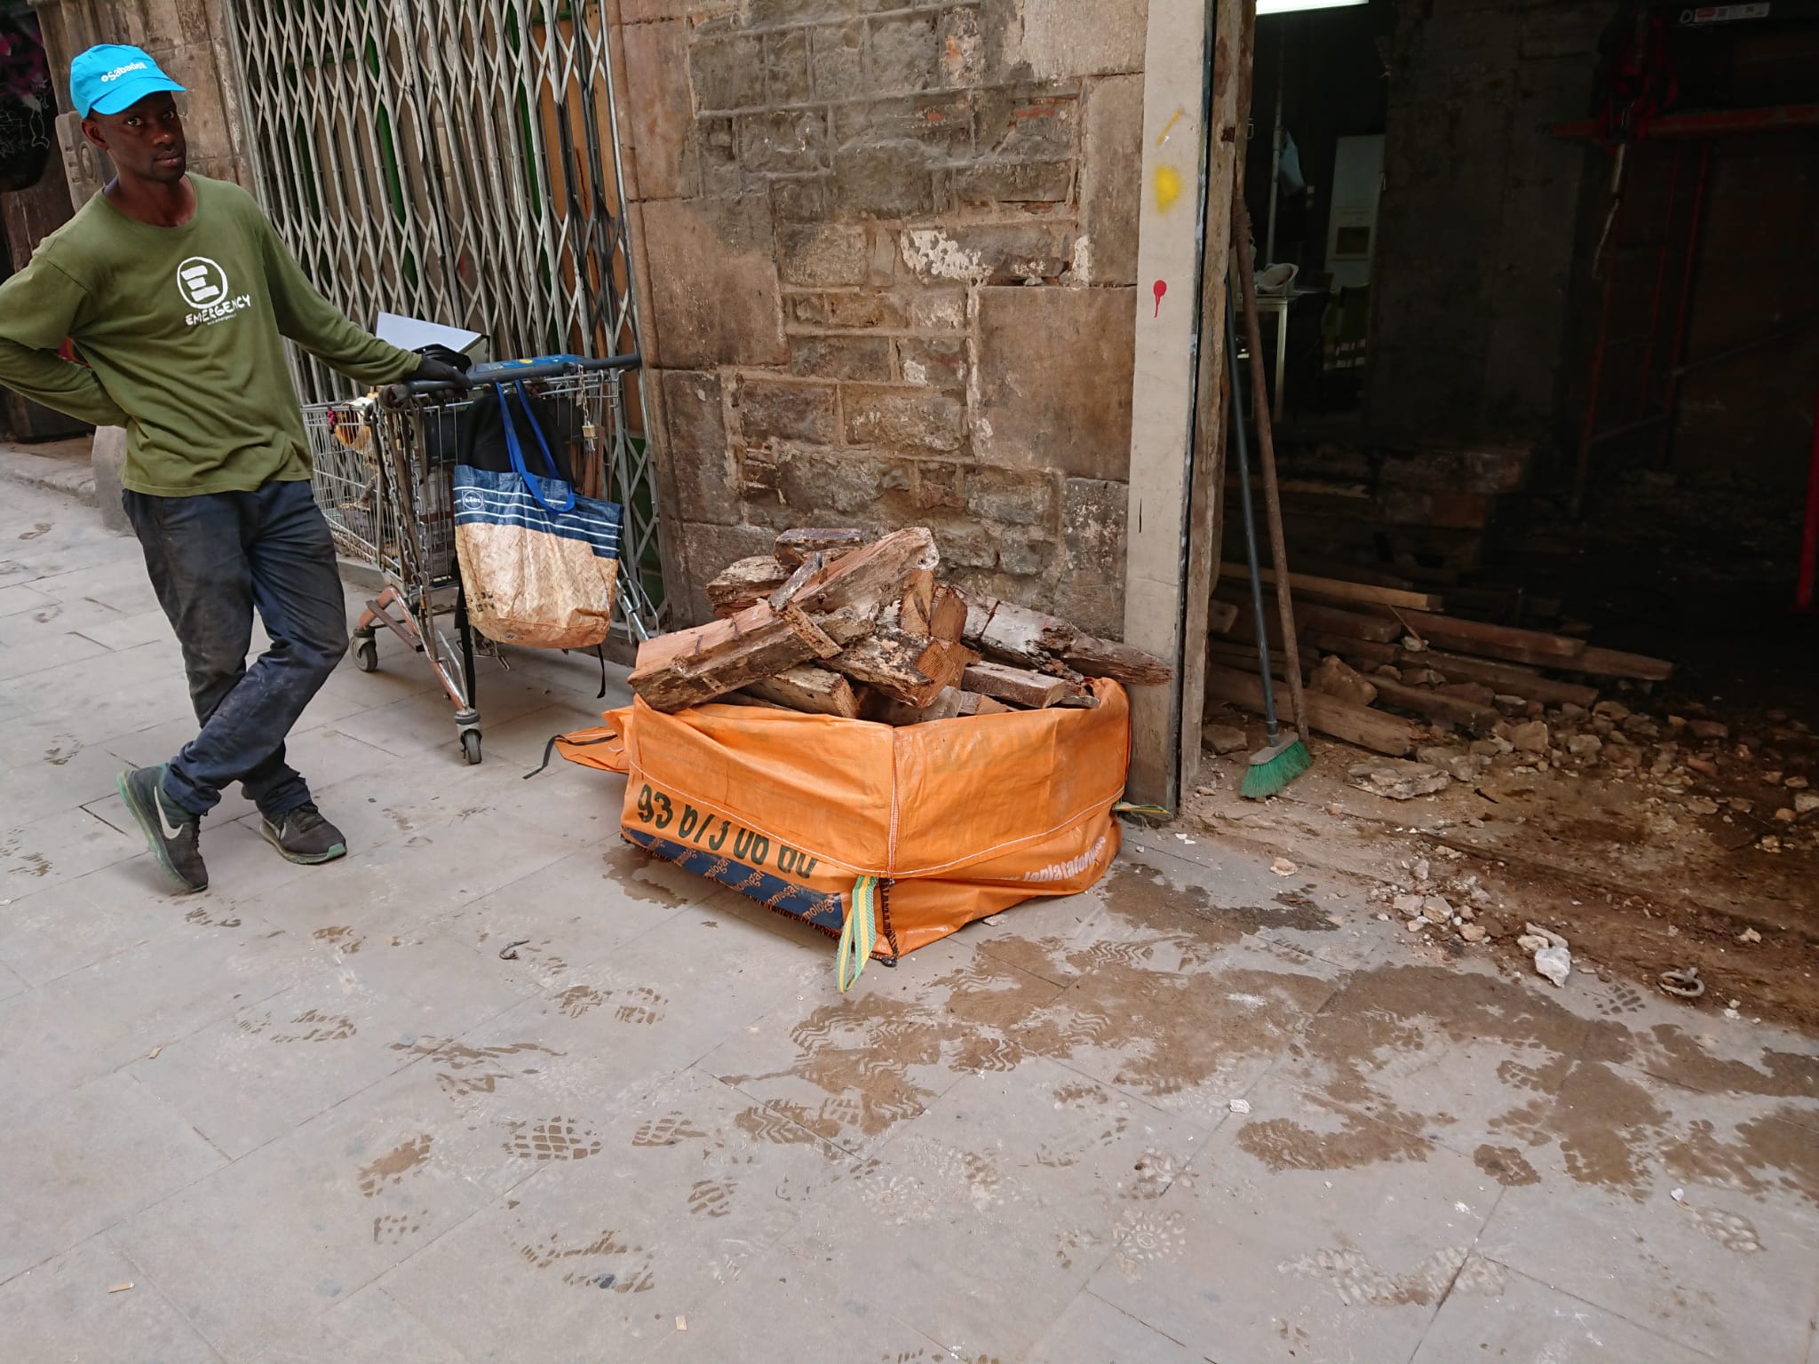
[[[136,546],[0,493],[7,1360],[1819,1359],[1812,1040],[1170,831],[842,998],[620,778],[524,780],[591,660],[489,667],[467,767],[382,640],[291,744],[353,855],[235,795],[173,898],[113,786],[189,735]]]

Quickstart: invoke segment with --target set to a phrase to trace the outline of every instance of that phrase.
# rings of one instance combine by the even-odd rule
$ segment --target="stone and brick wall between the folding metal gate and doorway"
[[[1142,0],[620,0],[678,598],[928,524],[1122,627]]]

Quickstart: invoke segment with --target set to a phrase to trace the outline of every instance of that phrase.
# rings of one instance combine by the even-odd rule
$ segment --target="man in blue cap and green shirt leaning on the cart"
[[[347,618],[280,336],[366,384],[462,375],[357,327],[244,189],[187,173],[180,91],[136,47],[71,64],[82,133],[116,178],[0,286],[0,384],[127,429],[126,511],[184,647],[200,733],[167,764],[122,773],[120,795],[158,866],[200,891],[202,817],[236,780],[284,857],[347,851],[284,760],[284,737],[347,647]],[[56,355],[65,336],[85,366]],[[255,609],[271,649],[249,669]]]

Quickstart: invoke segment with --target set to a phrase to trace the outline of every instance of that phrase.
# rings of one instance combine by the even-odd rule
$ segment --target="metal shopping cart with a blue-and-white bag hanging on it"
[[[475,389],[522,382],[566,415],[571,467],[584,487],[626,502],[633,449],[626,429],[624,371],[637,355],[589,360],[551,355],[475,366]],[[304,407],[315,460],[317,504],[335,547],[378,569],[384,582],[353,631],[362,673],[378,669],[384,626],[429,658],[455,704],[455,729],[467,762],[480,760],[480,709],[475,695],[475,631],[467,622],[455,560],[453,473],[471,398],[446,384],[393,384],[378,395]],[[455,644],[437,624],[453,617]],[[618,575],[615,629],[631,640],[657,633],[657,613],[638,582],[638,566]],[[482,647],[493,647],[482,640]],[[497,653],[497,647],[495,647]]]

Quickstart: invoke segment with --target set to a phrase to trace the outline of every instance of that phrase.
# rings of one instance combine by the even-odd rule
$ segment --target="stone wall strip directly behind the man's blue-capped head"
[[[189,167],[216,180],[253,187],[246,127],[227,49],[222,0],[36,0],[56,96],[69,109],[69,60],[98,42],[144,47],[187,91],[182,96]],[[82,136],[82,120],[56,120],[69,196],[84,204],[111,176]]]

